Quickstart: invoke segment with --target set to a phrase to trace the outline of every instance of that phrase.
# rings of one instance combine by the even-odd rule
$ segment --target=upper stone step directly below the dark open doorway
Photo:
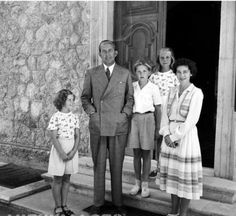
[[[155,162],[152,161],[152,169]],[[79,159],[79,173],[93,176],[93,162],[91,157],[81,157]],[[109,162],[107,160],[106,178],[110,179]],[[123,165],[123,182],[134,183],[133,158],[126,156]],[[158,190],[158,180],[150,179],[149,187]],[[203,197],[204,199],[219,201],[223,203],[236,202],[236,183],[227,179],[213,176],[203,176]],[[236,215],[236,214],[235,214]]]

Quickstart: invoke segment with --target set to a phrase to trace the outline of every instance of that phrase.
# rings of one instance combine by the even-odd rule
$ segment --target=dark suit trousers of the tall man
[[[105,173],[107,152],[111,173],[111,195],[115,206],[122,206],[122,169],[127,144],[127,134],[100,136],[90,134],[90,145],[94,164],[94,205],[105,202]]]

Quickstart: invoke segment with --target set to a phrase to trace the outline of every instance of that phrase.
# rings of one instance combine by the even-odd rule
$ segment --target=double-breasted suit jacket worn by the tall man
[[[115,64],[108,82],[103,65],[86,72],[81,95],[84,111],[90,115],[91,134],[127,134],[133,110],[133,85],[129,70]]]

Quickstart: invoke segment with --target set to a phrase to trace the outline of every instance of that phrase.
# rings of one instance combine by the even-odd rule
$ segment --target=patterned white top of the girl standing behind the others
[[[159,87],[162,97],[167,97],[170,88],[179,85],[179,80],[172,70],[167,72],[157,71],[150,76],[149,80]]]

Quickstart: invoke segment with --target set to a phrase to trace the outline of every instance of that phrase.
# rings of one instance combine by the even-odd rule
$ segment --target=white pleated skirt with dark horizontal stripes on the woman
[[[163,139],[160,155],[160,189],[180,198],[202,196],[202,160],[196,126],[170,148]]]

